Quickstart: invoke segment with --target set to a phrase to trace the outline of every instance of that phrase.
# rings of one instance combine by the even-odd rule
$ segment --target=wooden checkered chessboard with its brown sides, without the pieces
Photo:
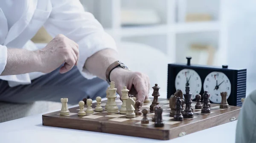
[[[141,124],[140,121],[143,115],[136,116],[135,118],[126,118],[125,114],[119,114],[119,112],[108,113],[107,109],[105,109],[107,101],[102,101],[103,111],[94,111],[92,114],[84,116],[78,116],[79,107],[70,108],[69,115],[60,115],[60,111],[45,114],[43,115],[43,125],[169,140],[183,134],[197,132],[236,120],[240,110],[240,107],[234,106],[230,106],[228,109],[220,109],[218,104],[211,104],[211,113],[201,114],[201,109],[195,109],[196,103],[193,102],[194,118],[174,121],[173,117],[169,116],[169,99],[159,98],[158,101],[161,108],[163,108],[162,117],[165,124],[163,127],[154,127],[154,122],[152,122],[153,111],[150,111],[147,115],[149,124]],[[116,98],[116,104],[120,109],[122,101]],[[151,103],[143,104],[141,109],[147,108],[149,111],[150,105]],[[84,107],[85,111],[87,106],[85,105]],[[92,108],[95,109],[95,107],[96,103],[93,103]]]

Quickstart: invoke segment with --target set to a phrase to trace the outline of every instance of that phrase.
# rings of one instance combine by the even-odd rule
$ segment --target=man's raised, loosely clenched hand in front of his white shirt
[[[40,59],[40,72],[50,73],[64,64],[60,73],[66,73],[76,65],[79,58],[79,45],[59,34],[45,48],[36,51],[36,53]]]

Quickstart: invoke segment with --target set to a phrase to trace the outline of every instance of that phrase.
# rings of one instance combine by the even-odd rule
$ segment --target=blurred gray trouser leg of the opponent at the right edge
[[[242,105],[236,126],[236,143],[256,143],[256,90]]]

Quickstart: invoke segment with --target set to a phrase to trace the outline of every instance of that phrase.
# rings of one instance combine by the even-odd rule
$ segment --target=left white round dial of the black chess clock
[[[201,78],[195,70],[183,69],[177,74],[175,78],[176,90],[180,89],[184,94],[186,86],[190,87],[192,99],[195,99],[195,95],[199,94],[202,88]]]

